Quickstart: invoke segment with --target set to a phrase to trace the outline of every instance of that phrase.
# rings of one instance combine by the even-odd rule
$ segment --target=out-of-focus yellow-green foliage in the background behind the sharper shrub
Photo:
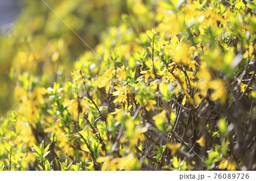
[[[92,48],[123,10],[123,1],[106,2],[46,1]],[[72,71],[73,62],[88,49],[43,1],[0,0],[0,28],[1,116],[15,102],[16,79],[22,82],[27,76],[33,82],[44,76],[48,83],[56,81],[57,72]]]

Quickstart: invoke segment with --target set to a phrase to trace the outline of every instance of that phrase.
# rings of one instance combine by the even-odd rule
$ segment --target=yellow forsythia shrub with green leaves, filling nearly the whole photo
[[[88,2],[49,6],[93,49],[38,2],[2,37],[1,170],[256,170],[255,2]]]

